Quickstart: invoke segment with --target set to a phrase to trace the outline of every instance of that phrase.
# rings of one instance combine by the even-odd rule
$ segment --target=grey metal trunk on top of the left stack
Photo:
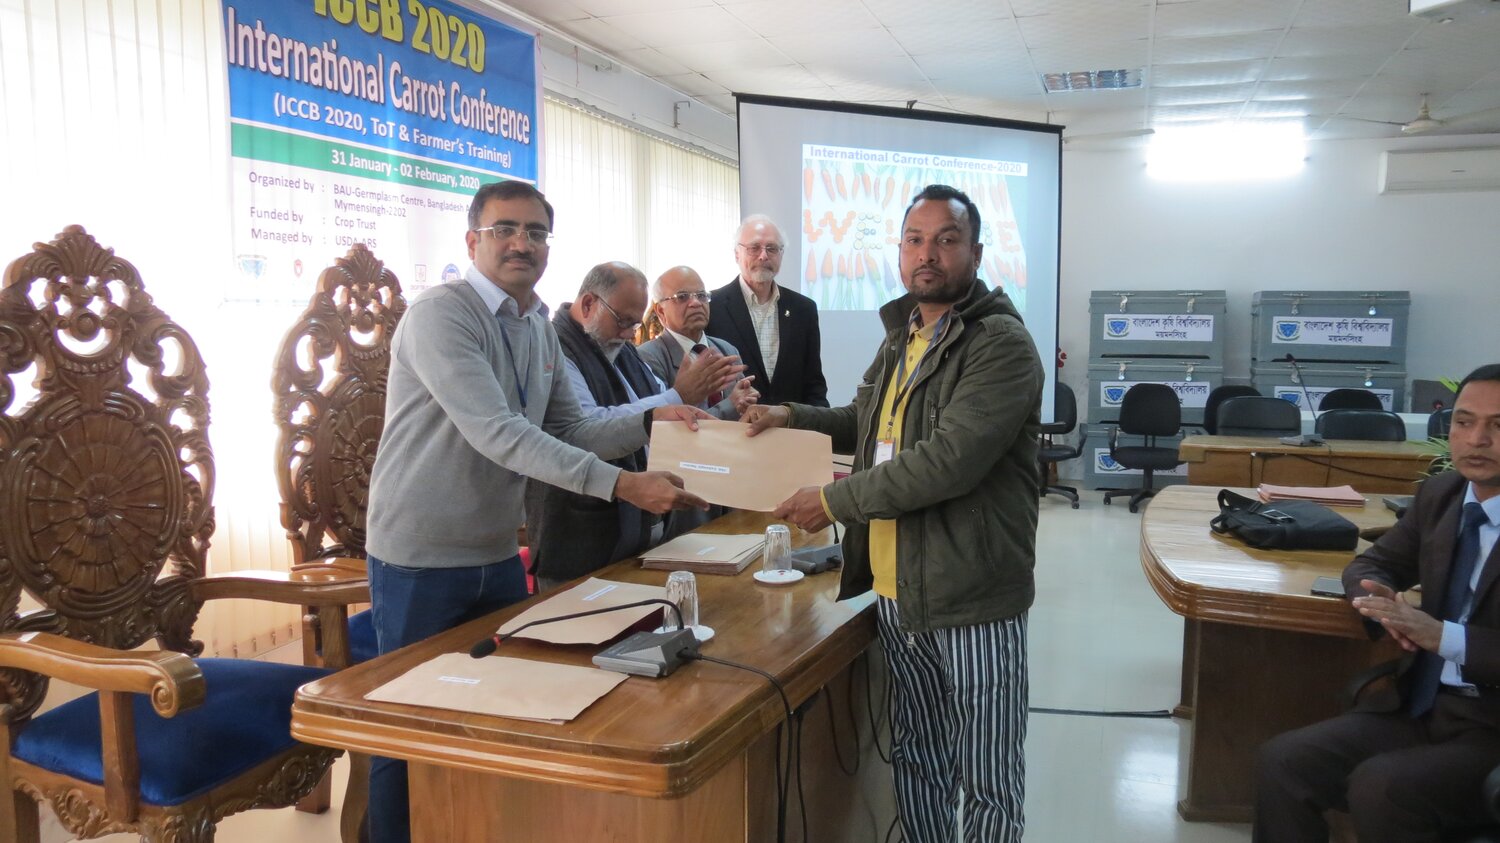
[[[1095,290],[1089,324],[1090,360],[1224,358],[1222,290]]]

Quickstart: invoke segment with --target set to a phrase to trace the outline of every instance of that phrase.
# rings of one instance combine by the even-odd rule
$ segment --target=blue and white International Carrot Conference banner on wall
[[[468,266],[480,184],[537,182],[536,36],[447,0],[225,0],[224,24],[237,294],[306,302],[298,262],[363,243],[416,296]]]

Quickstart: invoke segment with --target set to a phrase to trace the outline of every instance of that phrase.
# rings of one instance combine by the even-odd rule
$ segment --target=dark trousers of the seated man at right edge
[[[1276,735],[1256,762],[1257,843],[1323,843],[1347,810],[1359,843],[1437,843],[1490,820],[1479,788],[1500,764],[1494,704],[1438,694],[1424,717],[1353,711]]]

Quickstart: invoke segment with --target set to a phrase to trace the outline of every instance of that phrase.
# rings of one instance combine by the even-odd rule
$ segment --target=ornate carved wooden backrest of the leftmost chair
[[[30,372],[34,399],[12,406]],[[81,226],[9,266],[0,632],[201,652],[188,584],[204,576],[213,532],[207,390],[192,338],[152,303],[135,267]],[[22,590],[44,608],[20,615]],[[40,676],[0,672],[12,722],[45,693]]]

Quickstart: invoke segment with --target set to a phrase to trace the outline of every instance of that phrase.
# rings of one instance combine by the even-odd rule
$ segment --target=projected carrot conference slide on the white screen
[[[902,214],[927,184],[951,184],[980,208],[980,278],[1026,312],[1026,162],[802,144],[802,292],[820,310],[873,310],[904,292]],[[1017,210],[1017,204],[1022,206]],[[783,268],[783,272],[786,272]]]

